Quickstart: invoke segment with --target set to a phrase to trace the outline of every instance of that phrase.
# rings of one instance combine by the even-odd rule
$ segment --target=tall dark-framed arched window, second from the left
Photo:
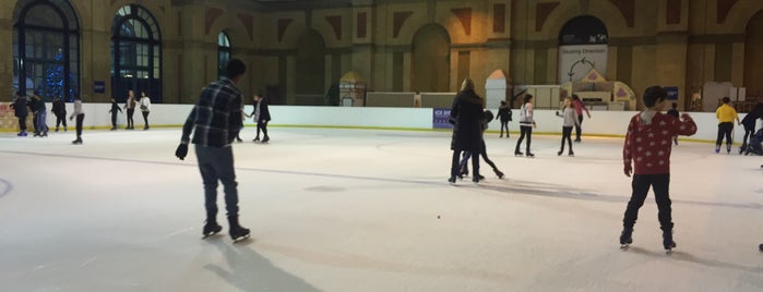
[[[145,92],[162,102],[162,35],[156,19],[143,7],[119,9],[111,24],[111,94],[126,100],[128,90]]]

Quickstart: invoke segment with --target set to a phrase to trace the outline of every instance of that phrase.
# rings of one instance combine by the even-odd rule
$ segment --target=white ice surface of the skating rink
[[[624,127],[624,125],[623,125]],[[240,221],[202,240],[195,155],[179,129],[0,134],[1,291],[763,291],[761,157],[681,142],[670,195],[678,248],[654,196],[619,248],[630,179],[622,138],[576,157],[536,135],[536,158],[490,133],[499,180],[448,184],[450,132],[252,129],[236,144]],[[524,149],[524,147],[523,147]],[[737,147],[735,147],[736,151]],[[224,208],[222,199],[218,206]]]

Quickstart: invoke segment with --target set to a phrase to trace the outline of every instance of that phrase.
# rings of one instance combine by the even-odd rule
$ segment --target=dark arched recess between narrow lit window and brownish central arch
[[[323,97],[325,87],[325,42],[315,31],[305,34],[297,45],[297,88],[296,94],[305,96],[298,104],[311,102],[308,99]],[[310,97],[317,96],[317,97]]]

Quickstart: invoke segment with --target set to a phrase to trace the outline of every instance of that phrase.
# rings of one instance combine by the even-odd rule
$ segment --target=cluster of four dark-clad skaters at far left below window
[[[43,97],[39,92],[35,92],[32,97],[26,97],[22,93],[15,93],[13,97],[13,102],[11,104],[14,115],[19,119],[19,134],[20,137],[28,136],[26,132],[26,119],[32,111],[32,124],[34,126],[35,137],[47,137],[48,124],[47,119],[47,108]],[[50,110],[56,115],[56,132],[60,130],[63,125],[63,132],[69,131],[67,125],[67,107],[61,99],[61,97],[56,97],[52,102],[52,109]],[[72,141],[73,144],[82,144],[82,122],[85,119],[85,113],[82,111],[82,99],[80,97],[74,97],[74,112],[69,117],[69,120],[76,118],[76,138]]]

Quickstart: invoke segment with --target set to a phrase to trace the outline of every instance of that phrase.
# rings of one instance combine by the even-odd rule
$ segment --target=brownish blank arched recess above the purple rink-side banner
[[[445,28],[430,24],[414,36],[410,90],[451,92],[451,39]]]

